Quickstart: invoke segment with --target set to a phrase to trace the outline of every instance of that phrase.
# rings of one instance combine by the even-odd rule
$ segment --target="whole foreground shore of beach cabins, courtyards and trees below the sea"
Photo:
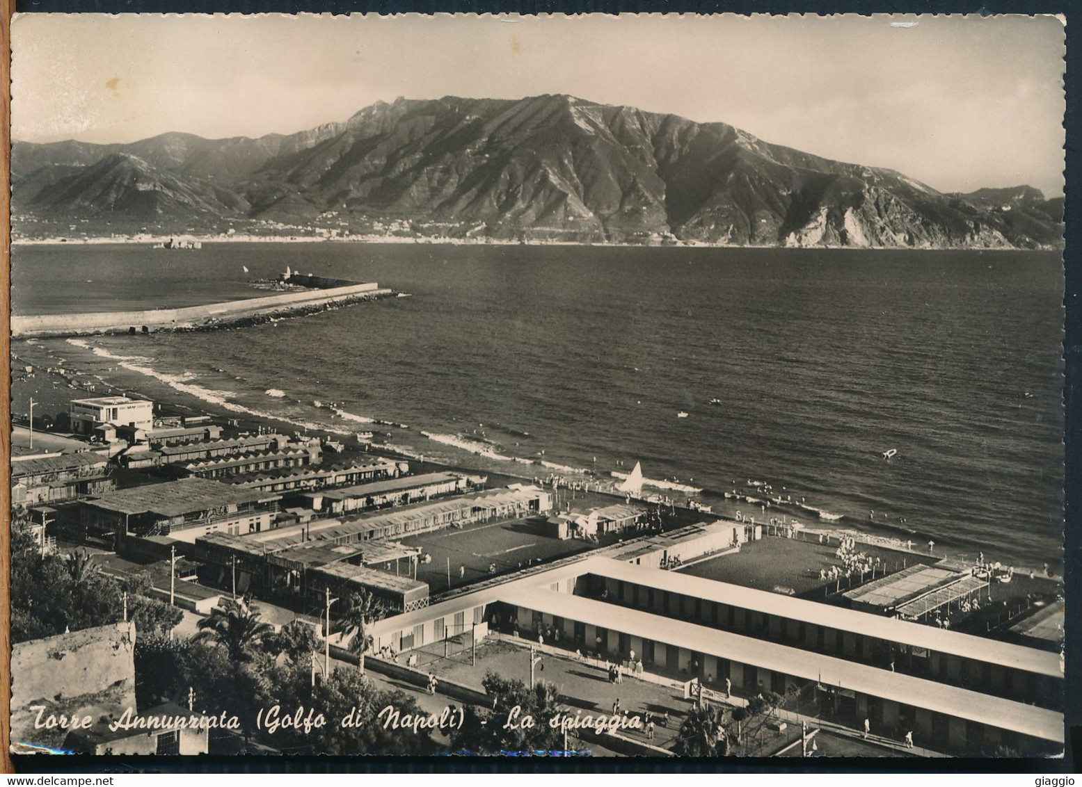
[[[278,284],[380,291],[317,279]],[[729,516],[639,465],[518,478],[84,394],[14,426],[15,751],[1063,748],[1047,566],[802,524],[751,480]],[[385,733],[388,706],[431,723]]]

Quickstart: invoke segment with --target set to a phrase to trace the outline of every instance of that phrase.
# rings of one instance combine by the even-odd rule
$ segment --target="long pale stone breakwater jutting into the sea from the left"
[[[147,333],[162,330],[192,330],[391,294],[393,294],[391,290],[381,290],[375,282],[366,282],[175,309],[26,315],[11,318],[11,335],[13,337],[84,336],[133,331]]]

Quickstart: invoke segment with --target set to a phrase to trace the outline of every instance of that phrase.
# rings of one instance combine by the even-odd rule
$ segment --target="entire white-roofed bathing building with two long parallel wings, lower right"
[[[608,596],[582,596],[598,578]],[[710,585],[723,587],[711,591]],[[636,605],[641,602],[647,602],[643,609]],[[727,617],[729,608],[750,626],[727,630],[716,625],[715,617]],[[981,684],[952,684],[946,671],[912,675],[854,658],[845,650],[818,652],[803,639],[801,624],[809,616],[824,629],[844,629],[849,643],[856,641],[849,635],[859,632],[893,638],[949,654],[971,668],[987,664],[1017,669],[1027,680],[1058,678],[1063,688],[1053,654],[597,556],[525,570],[379,621],[371,632],[377,650],[408,651],[438,641],[448,630],[467,630],[472,623],[506,628],[513,621],[527,638],[524,643],[536,641],[536,631],[558,628],[559,644],[545,638],[544,648],[568,655],[597,650],[599,658],[617,663],[634,651],[651,679],[697,679],[715,690],[727,679],[742,697],[764,691],[799,696],[810,706],[802,706],[803,713],[856,730],[868,719],[873,734],[899,742],[913,731],[919,746],[948,753],[1005,747],[1046,756],[1061,748],[1063,713],[1034,705],[1032,684],[1026,683],[1021,696],[1001,696]]]

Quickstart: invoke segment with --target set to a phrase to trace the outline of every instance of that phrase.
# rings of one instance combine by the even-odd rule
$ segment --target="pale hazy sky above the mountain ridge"
[[[913,25],[912,23],[916,23]],[[291,133],[378,99],[570,93],[888,166],[1063,188],[1064,28],[976,16],[19,16],[16,139]]]

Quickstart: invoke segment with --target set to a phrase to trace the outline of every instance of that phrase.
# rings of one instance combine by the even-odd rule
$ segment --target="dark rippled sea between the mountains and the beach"
[[[476,441],[505,457],[490,465],[524,475],[546,476],[542,461],[606,475],[641,461],[649,478],[713,493],[754,494],[748,481],[765,481],[844,515],[837,526],[1058,563],[1058,254],[57,245],[16,249],[13,310],[254,296],[250,278],[287,265],[412,297],[249,329],[47,345],[82,352],[107,379],[123,369],[210,410],[342,431],[371,428],[362,418],[408,424],[375,428],[448,458],[460,456],[450,443]],[[885,461],[888,449],[897,454]]]

